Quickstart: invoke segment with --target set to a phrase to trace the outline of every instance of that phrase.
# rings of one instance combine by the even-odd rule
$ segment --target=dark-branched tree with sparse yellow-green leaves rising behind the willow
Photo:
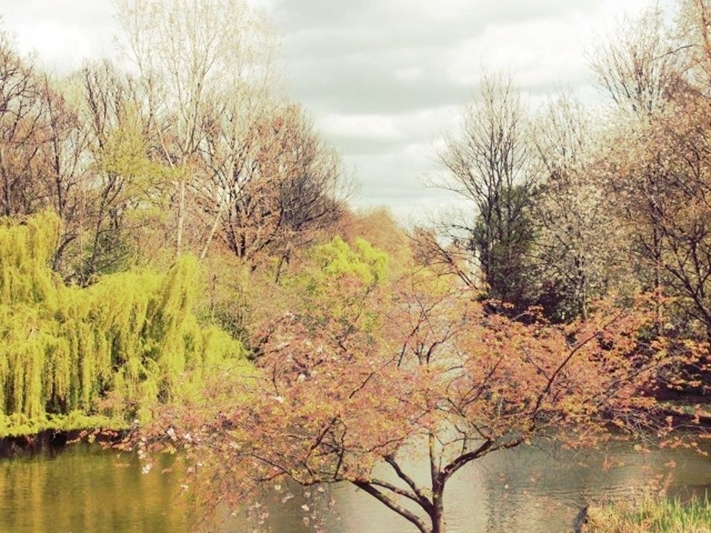
[[[91,164],[90,178],[82,183],[85,229],[75,267],[80,284],[135,261],[139,236],[149,221],[155,222],[173,176],[150,155],[140,102],[135,80],[110,63],[82,70],[80,109]]]

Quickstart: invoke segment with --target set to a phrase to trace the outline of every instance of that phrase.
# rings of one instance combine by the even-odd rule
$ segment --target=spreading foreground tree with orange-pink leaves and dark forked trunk
[[[220,377],[139,434],[142,451],[193,454],[215,503],[244,504],[283,478],[351,483],[420,532],[442,533],[447,483],[472,461],[536,436],[574,445],[609,426],[654,425],[642,393],[668,359],[638,336],[642,309],[524,325],[426,271],[391,292],[387,276],[373,285],[360,269],[326,265],[315,288],[351,302],[347,312],[306,305],[272,321],[254,379]],[[427,483],[402,462],[417,450]]]

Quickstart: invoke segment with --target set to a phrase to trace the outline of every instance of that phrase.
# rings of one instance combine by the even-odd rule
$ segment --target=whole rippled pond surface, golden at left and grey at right
[[[607,461],[606,461],[607,458]],[[609,468],[603,469],[607,463]],[[675,468],[669,468],[675,463]],[[0,459],[0,532],[114,533],[188,532],[201,515],[180,488],[170,458],[144,475],[134,457],[98,446],[75,445],[60,453]],[[671,478],[668,475],[671,473]],[[416,473],[424,480],[423,470]],[[581,453],[552,446],[528,446],[495,453],[461,470],[445,494],[449,533],[570,532],[587,500],[615,500],[666,481],[683,496],[711,489],[711,460],[690,451],[640,453],[628,444],[606,453]],[[313,489],[312,489],[313,490]],[[282,488],[281,494],[287,494]],[[304,525],[313,507],[301,490],[282,503],[265,501],[268,523],[277,533],[310,532]],[[327,512],[333,533],[414,531],[364,492],[346,485],[328,489],[336,514]],[[240,519],[213,519],[210,530],[248,532]]]

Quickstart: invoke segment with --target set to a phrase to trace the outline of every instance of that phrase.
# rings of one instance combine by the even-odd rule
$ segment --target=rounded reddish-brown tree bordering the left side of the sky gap
[[[215,184],[225,205],[220,235],[251,264],[264,252],[288,261],[292,249],[309,244],[341,217],[347,192],[341,188],[341,160],[298,106],[263,114],[252,130],[252,154]]]

